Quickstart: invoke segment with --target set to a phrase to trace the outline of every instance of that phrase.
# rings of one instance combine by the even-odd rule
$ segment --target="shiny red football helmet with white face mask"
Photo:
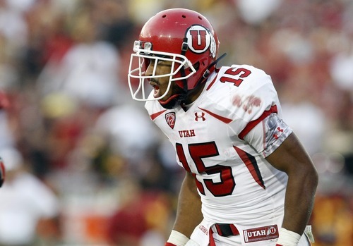
[[[133,46],[128,70],[128,85],[133,99],[158,100],[164,97],[172,82],[187,93],[205,81],[215,66],[219,42],[210,22],[196,11],[172,8],[157,13],[143,26]],[[138,58],[138,63],[136,62]],[[171,73],[145,75],[150,59],[172,61]],[[137,68],[136,68],[137,66]],[[161,97],[145,94],[145,80],[169,76],[168,90]],[[138,85],[133,80],[138,79]],[[147,81],[148,82],[148,81]]]

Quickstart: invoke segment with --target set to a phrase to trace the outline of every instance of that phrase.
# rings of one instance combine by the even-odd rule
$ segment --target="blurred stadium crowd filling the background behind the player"
[[[314,245],[353,245],[352,1],[0,0],[1,246],[164,245],[184,171],[126,80],[145,21],[179,7],[219,66],[271,75],[318,169]]]

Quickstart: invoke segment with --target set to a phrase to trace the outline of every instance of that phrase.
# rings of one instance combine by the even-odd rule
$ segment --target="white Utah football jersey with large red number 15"
[[[204,218],[240,228],[280,226],[287,175],[265,156],[292,130],[280,118],[270,76],[253,66],[217,68],[188,107],[145,104],[172,142],[179,165],[196,178]]]

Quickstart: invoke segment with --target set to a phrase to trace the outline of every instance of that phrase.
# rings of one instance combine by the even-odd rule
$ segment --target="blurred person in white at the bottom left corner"
[[[25,171],[14,148],[0,150],[6,183],[0,189],[0,245],[50,245],[59,240],[59,200],[42,181]]]

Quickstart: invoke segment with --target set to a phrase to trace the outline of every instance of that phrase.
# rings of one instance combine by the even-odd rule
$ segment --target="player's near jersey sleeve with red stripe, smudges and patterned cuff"
[[[270,76],[252,66],[242,68],[251,73],[234,90],[233,113],[236,117],[229,125],[241,140],[268,156],[292,129],[282,121],[280,101]]]

